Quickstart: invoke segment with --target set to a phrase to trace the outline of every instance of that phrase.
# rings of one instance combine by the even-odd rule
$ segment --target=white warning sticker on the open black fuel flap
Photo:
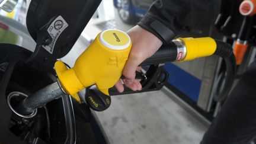
[[[48,28],[48,33],[52,37],[52,43],[48,46],[43,46],[50,54],[53,53],[55,43],[59,38],[60,34],[68,27],[68,23],[63,19],[62,16],[57,17]]]

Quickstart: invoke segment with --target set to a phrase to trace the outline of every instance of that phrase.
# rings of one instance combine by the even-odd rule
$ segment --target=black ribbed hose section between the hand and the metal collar
[[[144,60],[144,62],[142,62],[140,66],[174,62],[176,58],[177,46],[173,41],[171,41],[168,44],[162,45],[153,56]]]

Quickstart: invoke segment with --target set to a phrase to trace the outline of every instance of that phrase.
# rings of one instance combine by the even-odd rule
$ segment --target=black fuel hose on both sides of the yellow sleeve
[[[217,102],[221,102],[228,97],[229,91],[232,88],[233,81],[235,79],[235,72],[236,72],[236,64],[235,64],[235,56],[233,55],[232,46],[228,43],[223,41],[215,40],[216,41],[216,51],[214,55],[220,56],[225,61],[226,65],[226,75],[224,78],[225,84],[223,88],[218,88],[215,100]],[[178,59],[178,46],[177,43],[171,41],[168,44],[164,44],[160,47],[160,49],[151,57],[146,59],[144,62],[140,64],[143,65],[153,65],[159,63],[168,63],[168,62],[175,62]],[[220,85],[220,84],[219,84]]]

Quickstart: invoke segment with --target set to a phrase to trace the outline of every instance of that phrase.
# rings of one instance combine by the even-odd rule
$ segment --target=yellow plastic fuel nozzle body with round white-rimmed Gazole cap
[[[73,68],[67,69],[61,61],[55,63],[60,85],[79,102],[77,92],[94,84],[105,95],[109,95],[108,89],[119,80],[131,47],[130,37],[123,31],[101,32],[76,59]]]

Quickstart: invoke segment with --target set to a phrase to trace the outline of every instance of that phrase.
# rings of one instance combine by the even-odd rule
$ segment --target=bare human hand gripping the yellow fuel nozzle
[[[140,72],[139,64],[151,57],[162,46],[162,41],[139,25],[131,28],[127,31],[127,34],[132,40],[132,49],[123,69],[123,76],[125,77],[123,82],[126,87],[133,91],[140,91],[142,85],[140,84],[140,79],[135,79],[135,72]],[[115,87],[119,92],[124,91],[121,79],[116,83]]]

